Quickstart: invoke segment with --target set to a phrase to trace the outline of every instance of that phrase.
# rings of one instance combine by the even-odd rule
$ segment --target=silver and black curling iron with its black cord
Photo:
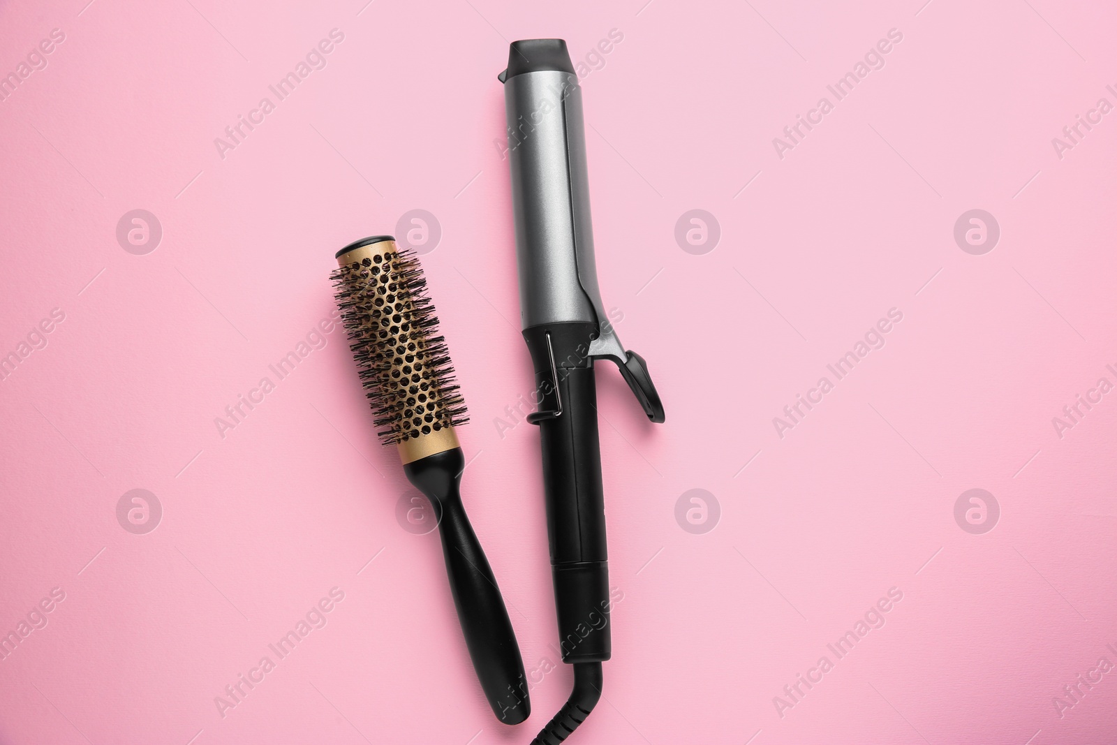
[[[582,89],[562,39],[514,41],[504,84],[521,321],[542,398],[547,535],[570,700],[536,737],[560,743],[601,696],[611,656],[609,564],[593,363],[620,367],[645,413],[663,405],[636,352],[609,324],[594,262]],[[590,629],[586,632],[586,629]]]

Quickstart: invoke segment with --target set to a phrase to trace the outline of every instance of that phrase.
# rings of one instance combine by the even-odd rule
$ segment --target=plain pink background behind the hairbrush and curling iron
[[[532,375],[496,75],[514,39],[584,60],[612,29],[583,77],[598,267],[667,423],[601,366],[623,601],[571,742],[1117,736],[1117,672],[1054,701],[1117,663],[1117,395],[1052,423],[1117,382],[1117,113],[1061,159],[1051,142],[1117,104],[1117,15],[923,1],[0,2],[0,74],[65,35],[0,103],[0,354],[65,314],[0,382],[0,632],[65,592],[0,660],[0,742],[488,745],[545,724],[570,669],[538,674],[527,724],[493,718],[341,332],[223,438],[214,418],[328,317],[334,250],[435,214],[466,506],[525,665],[557,665],[537,434],[505,411]],[[335,28],[325,68],[222,159],[214,139]],[[884,68],[777,156],[889,29]],[[142,256],[116,239],[134,209],[163,230]],[[691,209],[720,227],[704,255],[675,239]],[[971,209],[1001,229],[982,256],[953,237]],[[780,438],[773,418],[894,307],[884,348]],[[163,508],[145,535],[116,517],[134,488]],[[704,534],[675,517],[695,488],[720,508]],[[972,488],[1001,508],[982,535],[954,518]],[[335,586],[328,623],[222,718],[214,697]],[[891,588],[884,628],[836,661]]]

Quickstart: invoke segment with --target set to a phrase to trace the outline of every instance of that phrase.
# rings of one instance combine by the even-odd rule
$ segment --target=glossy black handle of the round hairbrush
[[[403,472],[435,508],[454,604],[489,706],[504,724],[519,724],[532,710],[524,661],[500,589],[461,504],[465,467],[461,448],[454,448],[405,464]]]

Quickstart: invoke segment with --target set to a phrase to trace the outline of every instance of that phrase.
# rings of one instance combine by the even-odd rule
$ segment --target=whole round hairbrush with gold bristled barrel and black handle
[[[455,427],[468,421],[419,260],[391,236],[337,252],[332,279],[378,434],[394,445],[438,519],[446,572],[466,647],[494,714],[527,718],[524,662],[493,570],[461,504],[466,459]]]

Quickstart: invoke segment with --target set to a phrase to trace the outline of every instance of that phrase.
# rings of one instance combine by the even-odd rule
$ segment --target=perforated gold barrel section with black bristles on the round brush
[[[381,441],[469,421],[419,260],[385,247],[331,279]]]

